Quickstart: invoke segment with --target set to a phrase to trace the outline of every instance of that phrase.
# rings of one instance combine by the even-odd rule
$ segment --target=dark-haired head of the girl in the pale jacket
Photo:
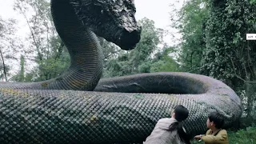
[[[185,106],[178,105],[174,107],[171,117],[175,118],[178,122],[184,121],[189,116],[189,110]]]

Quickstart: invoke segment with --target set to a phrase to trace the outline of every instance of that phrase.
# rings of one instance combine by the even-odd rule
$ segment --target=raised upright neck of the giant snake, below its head
[[[69,0],[51,0],[51,13],[71,63],[62,76],[43,82],[45,85],[37,89],[94,90],[102,76],[103,54],[98,38],[78,20]]]

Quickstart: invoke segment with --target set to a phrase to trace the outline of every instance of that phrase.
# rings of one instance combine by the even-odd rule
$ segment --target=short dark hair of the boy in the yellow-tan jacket
[[[222,126],[224,125],[224,118],[223,118],[222,114],[219,114],[217,111],[210,113],[208,118],[209,118],[210,122],[214,122],[215,127],[217,129],[221,129]]]

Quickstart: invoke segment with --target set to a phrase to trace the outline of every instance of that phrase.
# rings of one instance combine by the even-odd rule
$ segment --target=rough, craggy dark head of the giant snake
[[[134,0],[70,0],[84,26],[122,50],[132,50],[142,28],[134,17]]]

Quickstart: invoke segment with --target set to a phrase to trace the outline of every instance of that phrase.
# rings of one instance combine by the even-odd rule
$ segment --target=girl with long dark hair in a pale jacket
[[[185,106],[178,105],[171,111],[171,118],[162,118],[143,144],[190,144],[186,130],[182,126],[189,115]]]

